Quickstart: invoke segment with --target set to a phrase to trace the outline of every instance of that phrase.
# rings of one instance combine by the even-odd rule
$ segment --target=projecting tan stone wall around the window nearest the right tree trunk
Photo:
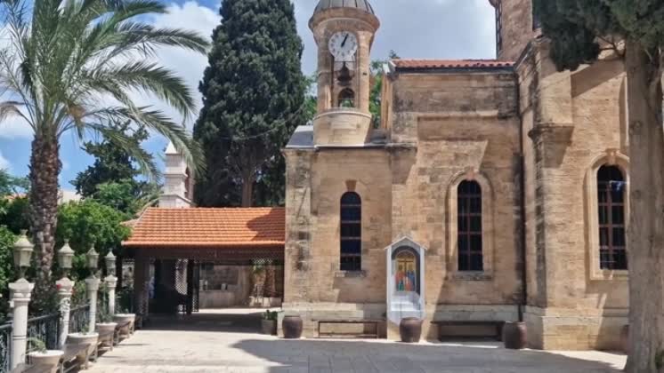
[[[628,313],[625,271],[599,270],[596,169],[628,172],[619,61],[557,72],[546,42],[518,67],[527,175],[530,345],[616,348]],[[533,246],[534,245],[534,246]],[[534,267],[533,267],[534,266]]]

